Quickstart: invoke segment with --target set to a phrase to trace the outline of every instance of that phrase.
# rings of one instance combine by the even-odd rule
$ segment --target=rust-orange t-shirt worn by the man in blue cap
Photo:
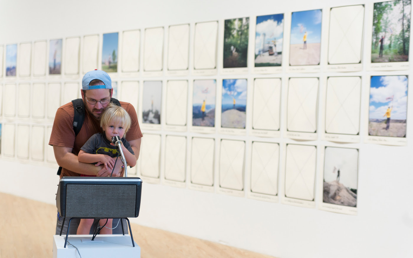
[[[136,115],[135,108],[130,103],[120,103],[121,106],[126,109],[129,116],[131,116],[132,121],[131,128],[128,130],[128,133],[126,133],[126,140],[132,141],[141,138],[143,135],[140,131],[138,116]],[[91,116],[89,112],[85,110],[85,120],[83,121],[81,130],[75,137],[75,132],[73,130],[73,118],[74,107],[72,102],[69,102],[57,109],[49,145],[73,148],[72,153],[77,155],[80,148],[92,135],[95,133],[102,133],[102,128],[100,127],[100,121]],[[64,176],[80,176],[80,174],[66,168],[62,168],[60,178]]]

